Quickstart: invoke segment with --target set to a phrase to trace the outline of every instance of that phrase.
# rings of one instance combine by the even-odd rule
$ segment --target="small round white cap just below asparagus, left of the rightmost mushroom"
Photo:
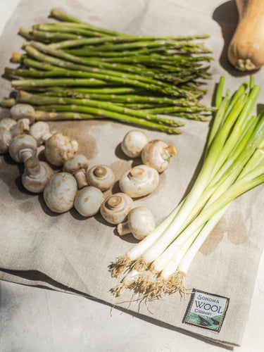
[[[146,134],[140,130],[131,130],[125,134],[121,143],[121,149],[126,156],[130,158],[138,158],[142,153],[142,149],[149,142]]]

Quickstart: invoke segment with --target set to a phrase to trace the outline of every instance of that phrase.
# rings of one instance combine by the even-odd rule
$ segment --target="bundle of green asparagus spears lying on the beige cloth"
[[[178,134],[175,116],[205,121],[212,59],[191,37],[132,36],[84,23],[55,9],[56,23],[20,28],[29,42],[13,53],[20,68],[6,68],[15,99],[2,106],[30,103],[36,120],[111,118]],[[161,115],[170,115],[163,117]]]

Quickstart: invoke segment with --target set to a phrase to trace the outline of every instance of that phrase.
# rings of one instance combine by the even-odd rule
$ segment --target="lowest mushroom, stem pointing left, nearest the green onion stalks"
[[[155,220],[151,210],[144,206],[137,206],[130,210],[127,221],[118,224],[117,230],[120,236],[132,233],[136,239],[144,239],[155,229]]]

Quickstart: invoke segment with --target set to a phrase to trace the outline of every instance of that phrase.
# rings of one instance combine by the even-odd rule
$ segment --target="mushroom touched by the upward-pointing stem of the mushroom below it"
[[[15,136],[9,144],[11,158],[17,163],[23,162],[23,153],[37,154],[37,141],[30,134],[19,134]]]

